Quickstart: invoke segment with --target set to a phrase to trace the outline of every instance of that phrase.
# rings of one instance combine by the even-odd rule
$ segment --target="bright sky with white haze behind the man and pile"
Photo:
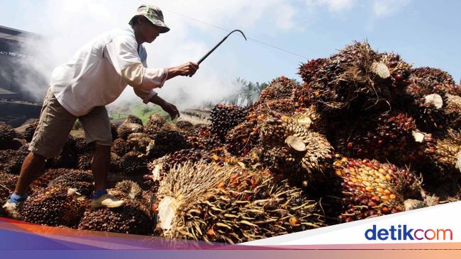
[[[461,1],[455,0],[2,0],[0,25],[49,40],[42,49],[46,58],[38,60],[48,74],[87,40],[125,26],[142,2],[160,6],[172,29],[146,46],[150,67],[197,60],[226,35],[194,19],[238,28],[248,38],[304,56],[233,35],[202,63],[196,76],[172,79],[160,90],[170,99],[178,91],[190,95],[191,103],[218,98],[233,91],[230,81],[237,76],[250,81],[281,75],[299,79],[301,62],[328,57],[353,40],[367,40],[374,50],[398,52],[413,67],[437,67],[457,82],[461,78]]]

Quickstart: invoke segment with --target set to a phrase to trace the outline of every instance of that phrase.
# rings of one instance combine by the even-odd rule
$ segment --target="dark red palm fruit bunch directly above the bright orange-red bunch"
[[[335,134],[335,150],[355,158],[414,160],[421,157],[419,144],[413,139],[414,130],[416,122],[406,113],[370,115],[352,123],[341,123]],[[406,157],[410,154],[413,156]]]

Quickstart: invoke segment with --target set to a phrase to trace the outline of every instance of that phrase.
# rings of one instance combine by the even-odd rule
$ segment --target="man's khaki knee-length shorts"
[[[111,122],[106,107],[98,106],[87,115],[78,117],[82,123],[87,143],[112,145]],[[50,159],[61,153],[77,117],[70,114],[55,98],[51,89],[43,101],[38,127],[33,134],[29,151]]]

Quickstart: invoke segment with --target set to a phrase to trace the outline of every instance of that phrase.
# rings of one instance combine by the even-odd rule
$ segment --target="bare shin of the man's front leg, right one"
[[[94,177],[94,190],[106,189],[106,177],[111,162],[111,146],[95,144],[93,162],[91,163],[91,171]]]

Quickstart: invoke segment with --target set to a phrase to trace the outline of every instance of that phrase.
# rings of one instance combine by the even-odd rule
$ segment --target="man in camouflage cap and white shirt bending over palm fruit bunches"
[[[30,153],[23,161],[16,189],[4,205],[11,217],[26,200],[30,183],[43,171],[45,159],[60,154],[77,118],[82,122],[87,143],[96,150],[91,163],[94,193],[91,207],[120,207],[106,192],[106,175],[111,158],[111,125],[105,105],[112,103],[127,85],[144,103],[155,103],[170,114],[179,116],[176,106],[160,98],[152,88],[160,88],[174,76],[192,76],[199,65],[188,62],[168,69],[148,69],[143,42],[152,42],[170,28],[163,21],[160,8],[142,5],[131,18],[130,28],[104,33],[84,45],[74,57],[52,71],[40,121],[35,130]]]

